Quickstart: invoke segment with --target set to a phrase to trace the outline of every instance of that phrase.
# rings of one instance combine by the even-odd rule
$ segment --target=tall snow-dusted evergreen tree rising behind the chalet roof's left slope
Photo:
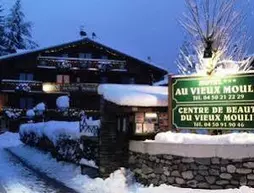
[[[37,44],[32,40],[31,23],[25,21],[21,0],[17,0],[6,18],[6,48],[8,53],[18,49],[33,49]]]

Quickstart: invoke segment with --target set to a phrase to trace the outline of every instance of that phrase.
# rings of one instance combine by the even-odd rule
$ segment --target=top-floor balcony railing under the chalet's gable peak
[[[65,69],[65,70],[98,70],[98,71],[126,71],[126,61],[88,59],[88,58],[64,58],[39,56],[39,68]]]

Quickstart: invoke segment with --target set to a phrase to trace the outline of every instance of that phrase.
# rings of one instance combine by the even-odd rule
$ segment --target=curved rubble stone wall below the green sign
[[[172,144],[168,144],[170,145]],[[254,156],[238,159],[185,157],[157,152],[149,154],[145,144],[139,148],[133,148],[133,144],[131,146],[129,167],[142,184],[202,189],[238,188],[242,185],[254,187]],[[202,156],[202,152],[200,155]]]

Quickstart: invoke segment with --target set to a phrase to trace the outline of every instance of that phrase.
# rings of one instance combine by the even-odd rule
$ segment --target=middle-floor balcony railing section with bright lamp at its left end
[[[97,93],[97,83],[43,83],[42,90],[46,93],[70,93],[70,92],[84,92]]]

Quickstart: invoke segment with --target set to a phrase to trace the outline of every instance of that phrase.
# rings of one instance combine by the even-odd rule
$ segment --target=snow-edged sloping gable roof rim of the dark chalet
[[[67,42],[67,43],[63,43],[63,44],[59,44],[59,45],[54,45],[54,46],[49,46],[49,47],[44,47],[44,48],[37,48],[37,49],[32,49],[32,50],[22,50],[22,51],[18,51],[17,53],[14,53],[14,54],[8,54],[8,55],[1,56],[0,60],[10,59],[10,58],[13,58],[13,57],[18,57],[18,56],[22,56],[22,55],[26,55],[26,54],[32,54],[32,53],[35,53],[35,52],[44,52],[44,51],[52,50],[52,49],[59,48],[59,47],[65,47],[65,46],[68,47],[69,45],[78,44],[78,43],[87,43],[87,42],[95,43],[97,45],[100,45],[102,47],[110,49],[113,52],[117,52],[118,54],[124,55],[125,57],[132,58],[134,60],[138,60],[139,62],[147,64],[147,65],[149,65],[153,68],[156,68],[157,70],[165,71],[165,73],[168,71],[167,69],[165,69],[165,68],[163,68],[163,67],[161,67],[157,64],[145,61],[145,60],[140,59],[136,56],[133,57],[131,55],[128,55],[126,53],[118,51],[114,48],[106,46],[105,44],[102,44],[102,43],[100,43],[98,41],[95,41],[95,40],[92,40],[90,38],[83,38],[83,39],[79,39],[79,40],[76,40],[76,41],[71,41],[71,42]]]

